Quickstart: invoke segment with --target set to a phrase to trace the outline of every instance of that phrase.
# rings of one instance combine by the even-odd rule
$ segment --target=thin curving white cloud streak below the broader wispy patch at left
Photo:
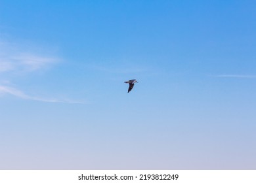
[[[26,99],[26,100],[32,100],[32,101],[41,101],[45,103],[80,103],[84,104],[85,102],[82,101],[73,101],[73,100],[60,100],[60,99],[45,99],[42,97],[33,97],[30,95],[26,95],[24,92],[16,89],[16,88],[11,88],[9,86],[0,86],[0,94],[10,94],[14,95],[15,97],[21,98],[21,99]]]

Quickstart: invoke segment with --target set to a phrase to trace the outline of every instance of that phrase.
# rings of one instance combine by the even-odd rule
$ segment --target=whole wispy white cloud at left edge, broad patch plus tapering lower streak
[[[20,99],[41,101],[47,103],[85,103],[83,101],[74,101],[70,99],[57,99],[55,97],[39,97],[28,95],[19,88],[26,88],[26,86],[13,86],[12,83],[18,81],[17,74],[30,75],[36,71],[42,71],[45,68],[51,67],[54,63],[61,61],[56,56],[47,56],[47,54],[39,54],[34,52],[33,48],[26,49],[18,44],[11,44],[9,42],[1,42],[0,40],[0,94],[1,96],[12,95]],[[20,75],[18,75],[20,76]],[[27,77],[28,79],[30,77]]]

